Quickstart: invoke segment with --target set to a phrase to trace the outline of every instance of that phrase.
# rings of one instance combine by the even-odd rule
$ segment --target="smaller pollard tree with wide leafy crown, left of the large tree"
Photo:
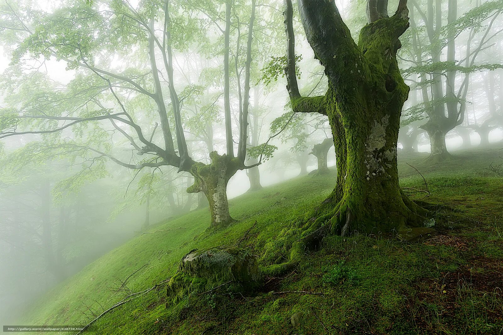
[[[76,78],[68,85],[47,86],[40,82],[37,89],[43,91],[40,92],[45,97],[43,101],[37,94],[32,94],[29,101],[10,101],[11,107],[2,109],[0,136],[42,134],[53,147],[87,152],[96,159],[107,158],[131,169],[176,167],[194,178],[188,192],[206,195],[211,224],[228,224],[232,218],[228,210],[227,182],[236,171],[249,167],[245,161],[256,4],[252,2],[250,7],[240,8],[246,14],[241,22],[247,23],[246,31],[242,32],[246,36],[245,52],[241,51],[241,58],[245,59],[244,87],[242,107],[233,122],[230,41],[237,34],[236,27],[240,27],[233,16],[237,18],[242,13],[236,13],[230,1],[147,2],[138,8],[127,2],[92,2],[91,6],[85,3],[62,6],[53,14],[39,13],[37,17],[23,15],[26,13],[23,4],[7,3],[3,18],[10,30],[6,31],[16,33],[10,39],[16,56],[9,80],[18,78],[16,84],[10,85],[9,93],[16,95],[21,89],[28,90],[28,85],[21,87],[23,79],[20,78],[26,75],[21,66],[27,57],[38,59],[42,64],[44,59],[56,57],[68,63],[67,69],[76,71]],[[191,129],[189,124],[194,117],[187,109],[198,104],[195,114],[209,114],[205,116],[210,121],[206,131],[212,131],[211,124],[218,118],[209,106],[215,103],[212,98],[219,87],[190,82],[186,87],[177,87],[174,73],[177,61],[183,57],[180,54],[190,46],[197,43],[210,46],[208,27],[220,31],[219,39],[223,39],[218,46],[223,56],[223,64],[219,63],[223,68],[223,93],[217,96],[223,100],[225,153],[209,151],[212,149],[208,143],[209,157],[206,156],[210,161],[206,159],[203,163],[203,157],[198,159],[191,154],[187,141],[186,129]],[[179,54],[175,57],[176,52]],[[125,62],[110,63],[117,57]],[[155,127],[154,123],[159,126]],[[233,124],[237,129],[233,129]],[[75,127],[77,132],[73,130]],[[70,128],[72,137],[51,136]],[[238,134],[236,143],[234,132]],[[112,145],[112,138],[118,136],[129,143],[136,156],[146,158],[133,157],[127,162],[127,156],[118,153],[118,148]],[[207,140],[213,140],[212,134],[207,134]],[[260,162],[251,166],[258,164]]]

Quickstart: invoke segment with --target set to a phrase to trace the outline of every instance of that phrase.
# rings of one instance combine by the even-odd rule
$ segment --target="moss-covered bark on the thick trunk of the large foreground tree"
[[[311,219],[319,224],[328,219],[333,233],[389,232],[422,222],[424,211],[398,186],[396,145],[409,87],[396,50],[397,31],[406,26],[398,15],[365,26],[361,54],[338,64],[338,77],[330,80],[326,113],[344,164],[338,166],[338,186]]]

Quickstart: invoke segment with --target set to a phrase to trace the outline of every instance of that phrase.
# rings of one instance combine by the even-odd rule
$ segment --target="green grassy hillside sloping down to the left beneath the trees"
[[[166,308],[161,284],[104,315],[91,331],[501,334],[503,177],[488,170],[503,163],[500,149],[457,151],[434,165],[424,161],[428,154],[399,155],[400,185],[428,203],[436,220],[427,236],[330,236],[308,262],[266,278],[260,292],[229,294],[222,287]],[[421,191],[425,182],[411,166],[431,194]],[[192,249],[241,241],[260,256],[279,231],[326,197],[335,177],[297,177],[234,198],[230,212],[238,221],[216,232],[207,230],[207,208],[152,226],[48,292],[20,324],[86,324],[125,295],[170,278]],[[284,291],[322,294],[278,294]]]

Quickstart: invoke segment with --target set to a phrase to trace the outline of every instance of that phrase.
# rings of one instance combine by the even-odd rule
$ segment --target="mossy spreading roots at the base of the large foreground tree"
[[[277,277],[291,271],[305,260],[309,251],[319,249],[326,236],[401,232],[410,227],[422,227],[428,215],[427,209],[400,191],[397,203],[383,199],[388,201],[388,205],[378,211],[382,219],[373,222],[371,212],[375,214],[375,208],[365,208],[363,204],[355,204],[346,197],[337,201],[336,193],[337,190],[334,190],[316,208],[298,217],[290,228],[285,228],[277,238],[266,244],[261,262],[272,263],[262,269],[266,276]],[[387,230],[383,231],[382,227]],[[282,251],[280,255],[277,250]]]

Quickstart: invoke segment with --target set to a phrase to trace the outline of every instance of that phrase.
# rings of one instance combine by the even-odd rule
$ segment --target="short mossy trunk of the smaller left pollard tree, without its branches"
[[[203,192],[208,199],[211,213],[211,227],[221,227],[234,222],[229,213],[227,183],[242,168],[238,158],[210,153],[211,164],[195,163],[190,169],[194,184],[187,188],[188,193]]]

